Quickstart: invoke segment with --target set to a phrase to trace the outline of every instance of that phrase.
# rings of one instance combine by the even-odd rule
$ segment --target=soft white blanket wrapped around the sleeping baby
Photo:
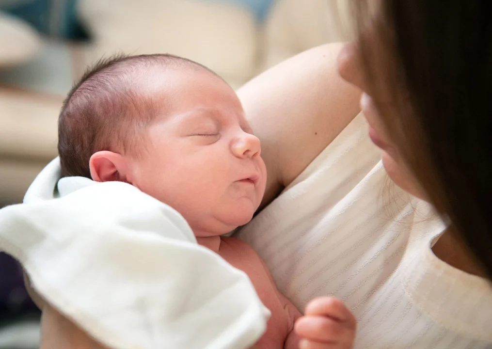
[[[64,178],[52,161],[0,210],[0,250],[110,348],[248,348],[270,313],[246,274],[197,245],[184,218],[124,183]]]

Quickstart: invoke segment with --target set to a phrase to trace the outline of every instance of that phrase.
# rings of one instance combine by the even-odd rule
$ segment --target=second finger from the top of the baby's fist
[[[326,344],[351,344],[354,331],[330,317],[304,316],[295,325],[296,333],[307,340]]]

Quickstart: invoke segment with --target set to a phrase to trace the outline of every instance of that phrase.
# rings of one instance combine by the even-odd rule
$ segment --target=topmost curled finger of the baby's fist
[[[331,317],[339,322],[345,322],[355,329],[356,318],[350,310],[336,297],[318,297],[310,301],[306,306],[305,315]]]

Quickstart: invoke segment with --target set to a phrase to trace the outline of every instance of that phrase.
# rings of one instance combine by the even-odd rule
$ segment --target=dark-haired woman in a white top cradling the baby
[[[240,236],[297,306],[341,298],[358,348],[492,343],[490,4],[443,6],[381,1],[355,43],[310,50],[239,92],[269,173],[265,208]],[[337,56],[403,190],[385,179]],[[95,348],[48,304],[42,331],[47,348]]]

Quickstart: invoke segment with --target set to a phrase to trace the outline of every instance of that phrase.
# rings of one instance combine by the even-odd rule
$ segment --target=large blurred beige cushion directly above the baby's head
[[[233,85],[252,77],[257,28],[240,6],[202,0],[80,0],[94,35],[87,62],[114,53],[172,53],[202,63]]]

